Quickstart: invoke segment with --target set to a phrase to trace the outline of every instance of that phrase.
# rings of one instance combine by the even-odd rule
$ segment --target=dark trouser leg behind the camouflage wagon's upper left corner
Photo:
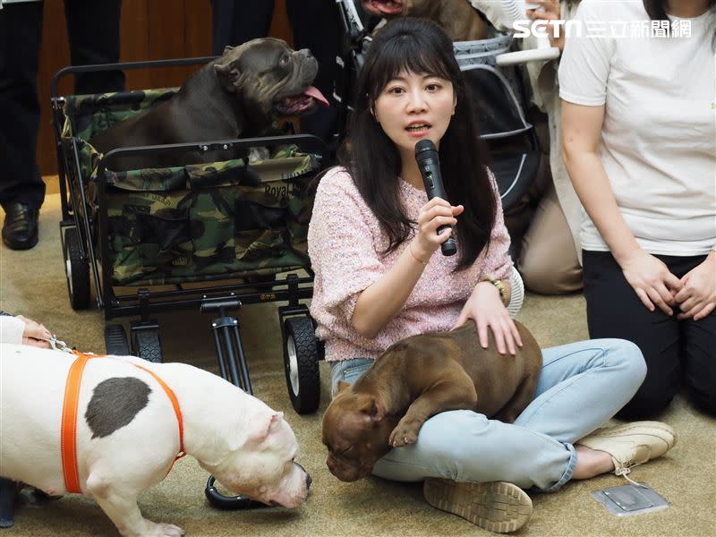
[[[115,64],[119,61],[119,20],[122,0],[64,0],[72,65]],[[76,94],[124,90],[124,72],[80,72]]]

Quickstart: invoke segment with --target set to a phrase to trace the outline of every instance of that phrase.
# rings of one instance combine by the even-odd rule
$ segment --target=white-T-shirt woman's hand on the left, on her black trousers
[[[637,248],[625,259],[619,260],[619,266],[626,281],[649,311],[658,307],[667,315],[674,313],[671,309],[676,305],[674,294],[678,293],[683,283],[671,274],[663,261]]]

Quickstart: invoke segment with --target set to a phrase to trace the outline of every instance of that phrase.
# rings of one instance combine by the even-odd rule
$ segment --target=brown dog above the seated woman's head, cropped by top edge
[[[395,17],[424,17],[437,22],[453,41],[484,39],[488,26],[465,0],[362,0],[371,14]]]

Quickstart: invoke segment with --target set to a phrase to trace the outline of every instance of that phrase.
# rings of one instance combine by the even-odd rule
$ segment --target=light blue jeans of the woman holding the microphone
[[[422,425],[415,444],[390,450],[373,474],[401,482],[442,477],[558,490],[575,471],[575,441],[626,405],[646,364],[639,348],[622,339],[551,347],[542,356],[534,399],[515,423],[469,410],[439,413]],[[338,380],[354,383],[372,362],[330,362],[333,393]]]

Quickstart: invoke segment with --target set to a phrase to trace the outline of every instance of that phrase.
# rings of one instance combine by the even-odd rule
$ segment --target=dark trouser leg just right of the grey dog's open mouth
[[[333,99],[333,84],[340,39],[338,8],[335,0],[286,0],[286,12],[294,29],[295,48],[310,49],[319,62],[313,85],[330,103],[330,108],[320,106],[313,114],[303,117],[301,132],[328,141],[337,132],[338,106]]]

